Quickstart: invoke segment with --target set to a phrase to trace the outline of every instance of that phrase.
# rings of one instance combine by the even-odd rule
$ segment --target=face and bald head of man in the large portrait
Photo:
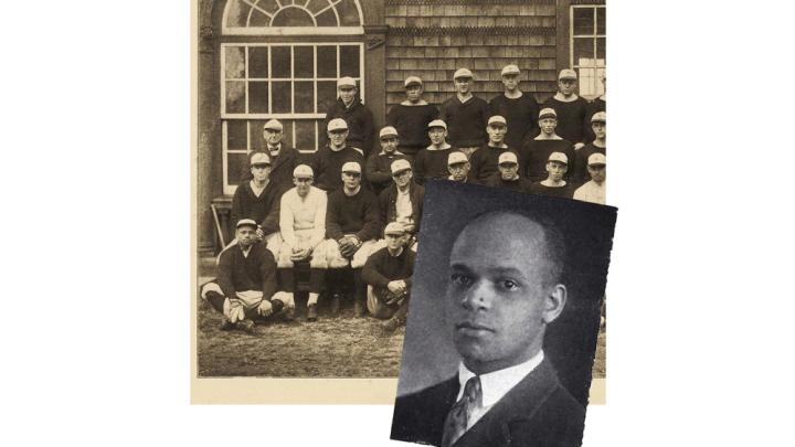
[[[563,286],[547,285],[543,230],[497,215],[470,223],[449,257],[447,323],[464,364],[483,374],[529,360],[547,323],[565,304]],[[554,294],[563,289],[561,302]]]

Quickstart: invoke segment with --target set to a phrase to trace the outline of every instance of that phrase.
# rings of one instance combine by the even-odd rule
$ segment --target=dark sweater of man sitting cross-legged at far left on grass
[[[226,298],[235,298],[236,291],[262,290],[263,299],[276,292],[276,259],[264,243],[254,243],[248,256],[235,244],[221,252],[218,266],[218,284]]]

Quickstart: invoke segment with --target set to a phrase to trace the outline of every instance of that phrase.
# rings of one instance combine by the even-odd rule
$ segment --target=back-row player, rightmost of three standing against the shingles
[[[532,95],[526,95],[519,89],[521,71],[513,64],[506,65],[501,72],[505,92],[489,102],[491,116],[499,115],[506,118],[508,131],[505,141],[511,148],[520,148],[526,138],[538,134],[539,106]]]

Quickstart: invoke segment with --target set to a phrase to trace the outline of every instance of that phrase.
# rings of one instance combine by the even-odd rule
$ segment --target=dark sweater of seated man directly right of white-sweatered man
[[[326,237],[339,241],[346,234],[356,234],[359,241],[379,237],[381,232],[378,198],[360,188],[349,196],[342,189],[329,194],[326,209]]]

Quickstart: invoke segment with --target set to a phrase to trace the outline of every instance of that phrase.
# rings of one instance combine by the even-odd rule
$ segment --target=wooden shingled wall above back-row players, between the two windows
[[[522,71],[520,88],[543,100],[556,89],[554,0],[386,0],[386,106],[405,99],[403,81],[420,76],[425,99],[454,94],[453,73],[475,74],[474,92],[502,92],[500,70]]]

